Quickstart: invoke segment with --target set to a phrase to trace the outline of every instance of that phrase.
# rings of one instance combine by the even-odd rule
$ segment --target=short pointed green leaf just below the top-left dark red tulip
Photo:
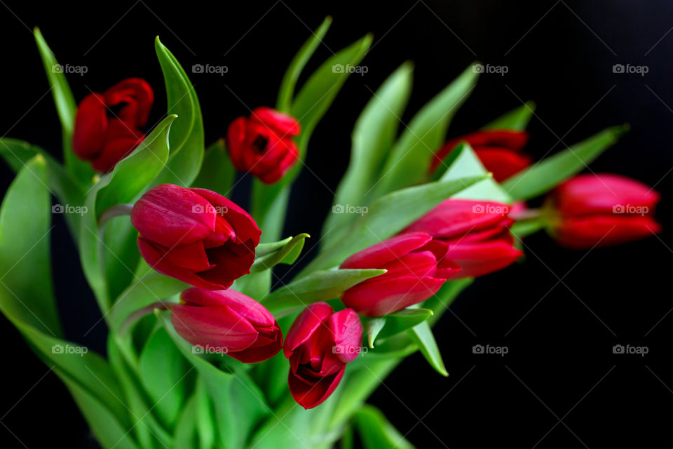
[[[163,119],[131,154],[119,161],[97,192],[96,215],[116,204],[133,201],[161,171],[169,153],[169,130],[176,115]],[[100,182],[103,182],[102,178]]]

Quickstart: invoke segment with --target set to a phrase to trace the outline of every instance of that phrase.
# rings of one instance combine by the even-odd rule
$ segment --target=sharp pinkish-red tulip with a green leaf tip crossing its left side
[[[348,288],[341,302],[364,316],[382,316],[418,304],[437,293],[461,268],[447,248],[423,232],[395,236],[348,257],[339,268],[386,269]]]

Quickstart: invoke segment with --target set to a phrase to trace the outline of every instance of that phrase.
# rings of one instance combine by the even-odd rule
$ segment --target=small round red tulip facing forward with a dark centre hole
[[[238,171],[250,172],[265,184],[280,180],[299,159],[292,137],[299,122],[270,107],[258,107],[250,118],[238,117],[226,133],[231,162]]]

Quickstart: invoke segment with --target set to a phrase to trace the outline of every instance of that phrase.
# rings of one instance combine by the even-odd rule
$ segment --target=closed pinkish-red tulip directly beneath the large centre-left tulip
[[[283,333],[271,312],[236,290],[188,288],[170,307],[179,335],[203,351],[257,363],[278,354]]]

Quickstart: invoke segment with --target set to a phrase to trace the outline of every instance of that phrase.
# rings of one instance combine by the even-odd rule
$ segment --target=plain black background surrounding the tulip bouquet
[[[78,100],[128,76],[147,79],[157,96],[150,123],[165,111],[156,34],[188,72],[196,63],[226,65],[224,76],[190,75],[211,142],[249,108],[273,105],[287,63],[327,14],[334,24],[308,69],[366,32],[374,32],[374,46],[362,62],[367,74],[351,76],[315,130],[307,160],[314,174],[304,170],[297,182],[285,234],[320,234],[348,163],[355,118],[370,91],[405,60],[416,67],[405,123],[470,62],[508,67],[505,76],[481,77],[451,136],[524,100],[538,104],[527,147],[537,158],[630,123],[632,131],[592,170],[656,185],[664,194],[658,219],[665,231],[589,253],[532,236],[524,264],[477,281],[437,323],[451,375],[440,377],[416,354],[371,402],[421,448],[673,445],[672,2],[143,1],[0,4],[0,134],[60,153],[59,123],[31,35],[35,25],[62,64],[88,67],[84,76],[69,76]],[[615,74],[617,63],[646,65],[648,73]],[[11,178],[3,164],[3,190]],[[106,329],[91,330],[100,314],[60,217],[55,225],[53,271],[67,337],[103,351]],[[96,447],[67,390],[11,324],[0,321],[2,446]],[[474,344],[505,345],[509,352],[476,355]],[[649,353],[616,355],[614,344],[646,345]]]

